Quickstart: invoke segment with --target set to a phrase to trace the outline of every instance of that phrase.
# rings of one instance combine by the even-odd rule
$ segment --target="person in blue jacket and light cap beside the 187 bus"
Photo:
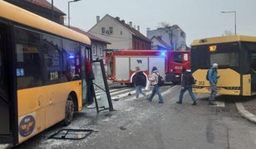
[[[207,79],[209,80],[209,84],[210,84],[209,105],[215,105],[213,101],[215,100],[216,94],[218,94],[218,89],[216,87],[216,84],[219,79],[217,69],[218,69],[218,64],[214,63],[207,73]]]

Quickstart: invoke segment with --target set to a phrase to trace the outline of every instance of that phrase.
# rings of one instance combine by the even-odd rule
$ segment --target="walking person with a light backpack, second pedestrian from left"
[[[160,75],[160,73],[158,72],[157,68],[154,66],[152,68],[152,72],[151,72],[151,75],[150,75],[150,83],[151,85],[154,86],[154,89],[152,90],[152,93],[150,94],[150,98],[147,98],[150,102],[152,102],[152,99],[154,98],[155,94],[158,94],[158,97],[159,97],[159,102],[158,103],[164,103],[164,99],[163,99],[163,96],[160,94],[160,87],[158,85],[158,76]]]

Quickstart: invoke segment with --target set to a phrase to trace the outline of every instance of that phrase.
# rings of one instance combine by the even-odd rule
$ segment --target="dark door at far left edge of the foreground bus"
[[[7,26],[0,22],[0,143],[1,137],[11,134],[10,105],[7,86]]]

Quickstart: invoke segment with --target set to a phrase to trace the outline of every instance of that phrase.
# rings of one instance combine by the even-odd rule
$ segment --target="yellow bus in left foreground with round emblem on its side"
[[[90,48],[87,36],[0,1],[0,144],[71,123]]]

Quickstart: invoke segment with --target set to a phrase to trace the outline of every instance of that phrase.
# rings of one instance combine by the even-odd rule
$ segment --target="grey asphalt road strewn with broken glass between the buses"
[[[128,91],[129,92],[129,91]],[[127,92],[127,93],[128,93]],[[210,107],[207,95],[197,94],[199,103],[191,105],[185,94],[182,105],[175,103],[180,86],[163,86],[165,103],[155,97],[150,103],[134,95],[113,101],[115,112],[86,108],[77,113],[68,127],[57,124],[17,148],[86,149],[229,149],[256,147],[256,125],[241,118],[233,97],[218,98],[220,107]],[[220,105],[220,104],[219,104]],[[91,128],[80,141],[47,139],[61,128]]]

